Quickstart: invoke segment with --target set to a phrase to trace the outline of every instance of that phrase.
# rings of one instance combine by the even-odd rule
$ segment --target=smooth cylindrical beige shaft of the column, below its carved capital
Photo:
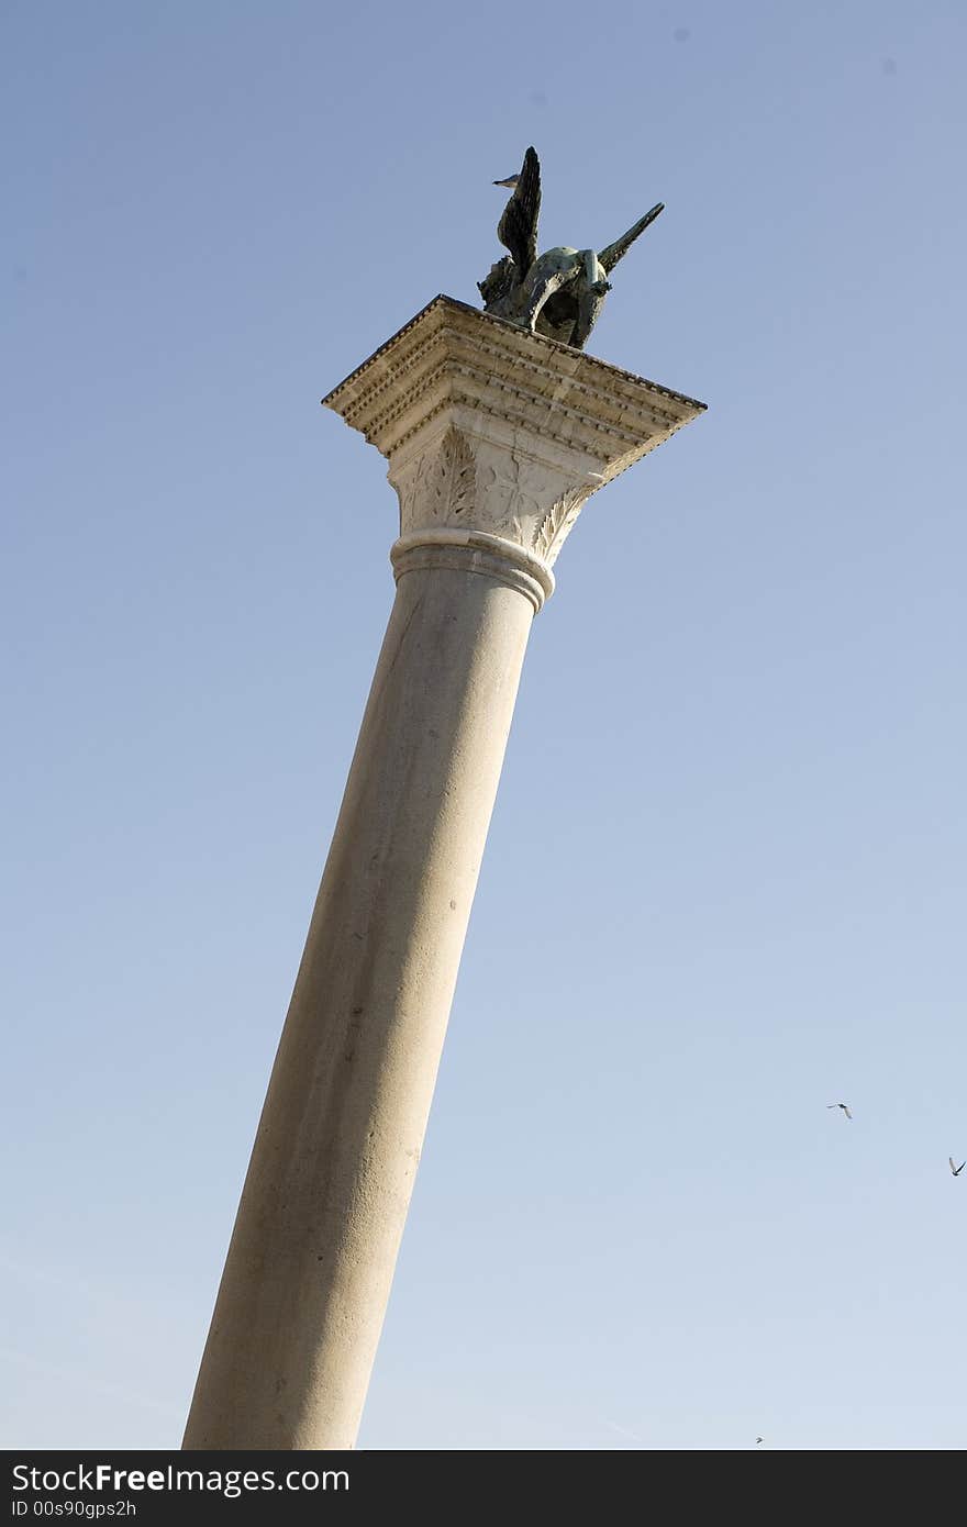
[[[399,577],[185,1448],[354,1445],[535,612],[493,560]]]

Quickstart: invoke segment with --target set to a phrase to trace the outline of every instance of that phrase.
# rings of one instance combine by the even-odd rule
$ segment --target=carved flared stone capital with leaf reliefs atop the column
[[[408,548],[483,536],[550,586],[591,493],[704,408],[446,296],[322,402],[386,457]]]

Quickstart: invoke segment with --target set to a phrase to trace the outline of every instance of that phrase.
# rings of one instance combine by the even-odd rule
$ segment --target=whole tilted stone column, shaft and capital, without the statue
[[[396,602],[185,1448],[351,1448],[524,649],[582,504],[703,408],[451,298],[324,403],[388,458]]]

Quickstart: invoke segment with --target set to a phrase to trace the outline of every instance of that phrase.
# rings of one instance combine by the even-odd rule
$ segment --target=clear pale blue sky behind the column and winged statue
[[[709,412],[536,620],[361,1446],[962,1446],[964,6],[2,31],[0,1443],[180,1440],[393,597],[318,400],[535,144]]]

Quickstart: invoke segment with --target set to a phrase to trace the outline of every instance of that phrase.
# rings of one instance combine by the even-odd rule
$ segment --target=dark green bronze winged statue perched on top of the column
[[[521,328],[545,334],[582,350],[611,290],[608,276],[616,264],[654,223],[665,203],[639,218],[634,228],[597,253],[594,249],[548,249],[538,257],[538,214],[541,211],[541,163],[533,148],[524,154],[518,176],[495,180],[509,186],[512,197],[504,208],[496,237],[510,250],[478,281],[484,313],[507,318]]]

